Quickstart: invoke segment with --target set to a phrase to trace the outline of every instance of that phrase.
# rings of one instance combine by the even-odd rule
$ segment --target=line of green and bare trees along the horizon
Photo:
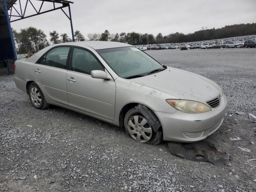
[[[15,43],[18,47],[18,53],[38,51],[46,46],[49,46],[50,44],[72,41],[72,39],[66,33],[59,34],[56,30],[53,30],[52,32],[49,32],[49,42],[46,39],[46,34],[44,31],[34,27],[20,29],[20,32],[12,29],[12,33]],[[142,34],[137,32],[121,32],[110,34],[108,30],[105,30],[101,34],[89,33],[87,35],[88,39],[85,39],[83,34],[79,30],[76,30],[74,32],[74,37],[76,41],[115,41],[132,45],[143,45],[155,43],[195,42],[253,34],[256,34],[256,23],[227,25],[217,29],[208,29],[207,27],[202,27],[200,30],[186,35],[180,32],[176,32],[163,36],[162,33],[158,33],[156,37],[153,34]]]

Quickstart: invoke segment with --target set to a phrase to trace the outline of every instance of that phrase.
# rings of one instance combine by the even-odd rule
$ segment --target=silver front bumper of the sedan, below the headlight
[[[173,114],[155,112],[163,130],[163,140],[196,142],[203,140],[220,128],[227,110],[227,98],[221,97],[220,105],[200,114],[176,111]]]

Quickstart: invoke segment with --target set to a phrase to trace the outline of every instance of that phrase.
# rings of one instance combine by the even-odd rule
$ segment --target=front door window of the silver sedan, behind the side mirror
[[[105,69],[90,52],[83,49],[74,48],[71,70],[91,74],[92,70],[104,71]]]

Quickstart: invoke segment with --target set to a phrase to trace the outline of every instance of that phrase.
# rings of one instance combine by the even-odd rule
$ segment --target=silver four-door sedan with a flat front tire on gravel
[[[16,86],[35,108],[68,108],[124,127],[138,142],[202,140],[221,126],[227,108],[215,82],[124,43],[48,46],[14,68]]]

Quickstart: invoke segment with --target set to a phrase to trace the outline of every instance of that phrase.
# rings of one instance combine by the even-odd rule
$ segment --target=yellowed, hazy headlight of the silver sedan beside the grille
[[[166,99],[168,104],[184,113],[204,113],[212,109],[203,103],[190,100]]]

